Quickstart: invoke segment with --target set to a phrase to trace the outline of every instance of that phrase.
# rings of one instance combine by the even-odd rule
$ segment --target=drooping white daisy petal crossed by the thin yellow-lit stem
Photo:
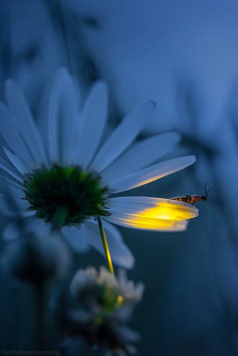
[[[118,266],[132,268],[134,266],[134,257],[125,245],[121,233],[113,225],[103,221],[106,240],[110,251],[111,260]],[[88,244],[93,246],[104,256],[104,250],[101,242],[99,228],[94,220],[87,220],[83,226]]]

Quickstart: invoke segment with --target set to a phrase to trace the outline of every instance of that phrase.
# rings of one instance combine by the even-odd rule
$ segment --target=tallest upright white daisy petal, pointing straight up
[[[57,72],[49,115],[51,160],[68,166],[78,147],[79,120],[74,87],[65,68]]]

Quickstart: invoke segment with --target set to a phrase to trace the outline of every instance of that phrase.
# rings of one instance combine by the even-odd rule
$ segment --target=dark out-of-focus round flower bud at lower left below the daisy
[[[6,193],[8,188],[6,187]],[[59,232],[39,236],[27,231],[26,219],[19,214],[15,201],[6,196],[6,206],[15,207],[19,239],[5,242],[1,265],[5,273],[19,280],[42,286],[46,281],[64,278],[68,272],[70,254]]]

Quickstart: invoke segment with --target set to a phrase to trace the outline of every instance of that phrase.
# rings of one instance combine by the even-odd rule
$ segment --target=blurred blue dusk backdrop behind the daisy
[[[138,355],[238,355],[238,3],[1,0],[0,6],[1,100],[5,81],[14,79],[40,125],[61,66],[84,97],[95,80],[108,83],[108,132],[153,99],[157,108],[140,138],[177,131],[181,141],[165,158],[194,154],[197,162],[131,194],[170,198],[202,195],[206,182],[212,187],[185,232],[120,227],[136,261],[129,277],[145,284],[130,322],[141,334]],[[1,214],[2,229],[7,222]],[[103,264],[95,251],[74,255],[77,268]],[[4,272],[0,315],[0,348],[31,349],[34,290]]]

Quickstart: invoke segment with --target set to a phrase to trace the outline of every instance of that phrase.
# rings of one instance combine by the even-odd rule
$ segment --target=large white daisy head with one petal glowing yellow
[[[28,104],[13,81],[6,84],[9,109],[0,104],[0,131],[11,151],[0,159],[0,177],[28,220],[29,229],[42,233],[59,207],[65,208],[62,233],[78,251],[93,246],[103,254],[96,216],[104,219],[112,261],[130,268],[134,258],[120,232],[109,222],[154,231],[182,231],[198,210],[189,204],[153,197],[111,197],[111,194],[153,182],[195,162],[194,156],[153,164],[178,141],[176,133],[156,135],[132,143],[155,109],[153,101],[130,112],[104,139],[108,93],[99,81],[91,89],[82,112],[65,69],[56,76],[42,127],[37,127]],[[153,165],[152,165],[153,164]],[[5,204],[2,188],[0,207]],[[107,222],[107,221],[109,222]],[[17,237],[14,222],[4,236]]]

